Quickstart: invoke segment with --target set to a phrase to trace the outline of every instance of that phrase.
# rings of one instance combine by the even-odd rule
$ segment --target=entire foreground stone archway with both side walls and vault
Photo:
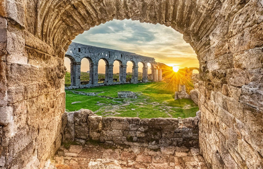
[[[171,26],[200,63],[199,147],[210,168],[263,168],[261,0],[1,0],[0,168],[58,150],[71,40],[113,18]]]

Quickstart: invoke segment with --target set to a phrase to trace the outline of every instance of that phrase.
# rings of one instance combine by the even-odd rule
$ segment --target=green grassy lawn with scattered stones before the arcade
[[[97,92],[97,96],[75,94]],[[119,91],[136,92],[137,99],[118,98]],[[88,89],[66,90],[66,111],[90,109],[100,116],[121,117],[194,117],[199,110],[190,99],[174,100],[174,92],[164,82],[112,85]],[[79,102],[74,103],[73,102]]]

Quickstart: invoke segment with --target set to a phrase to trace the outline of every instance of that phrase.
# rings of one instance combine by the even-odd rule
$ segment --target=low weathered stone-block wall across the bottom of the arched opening
[[[198,121],[199,116],[186,119],[102,117],[81,109],[63,114],[63,142],[96,140],[110,145],[142,146],[154,150],[160,146],[198,148]]]

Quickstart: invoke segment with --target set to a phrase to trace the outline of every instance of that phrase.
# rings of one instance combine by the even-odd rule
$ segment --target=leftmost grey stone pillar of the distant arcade
[[[71,86],[80,87],[80,62],[70,64],[70,81]]]

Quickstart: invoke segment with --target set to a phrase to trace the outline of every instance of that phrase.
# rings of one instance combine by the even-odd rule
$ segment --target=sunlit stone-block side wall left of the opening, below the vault
[[[64,58],[28,32],[26,8],[35,15],[33,1],[0,2],[1,169],[40,168],[62,140]]]

